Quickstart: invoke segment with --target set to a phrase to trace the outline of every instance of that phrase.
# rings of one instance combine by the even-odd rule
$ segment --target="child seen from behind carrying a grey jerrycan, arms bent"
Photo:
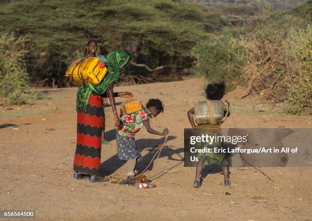
[[[223,95],[225,93],[225,84],[222,83],[212,83],[208,84],[206,87],[206,97],[207,100],[221,100]],[[229,107],[229,102],[225,101],[225,107]],[[197,136],[201,136],[202,134],[210,134],[212,136],[222,136],[221,133],[221,125],[196,125],[193,119],[195,108],[191,108],[188,111],[188,117],[191,123],[192,128],[197,132]],[[226,111],[224,111],[224,116],[226,114]],[[214,150],[214,147],[221,147],[221,142],[214,142],[210,145],[209,142],[197,142],[197,148],[198,149],[204,149],[204,148],[212,148]],[[229,169],[228,169],[228,161],[229,155],[224,153],[197,153],[196,157],[199,158],[196,166],[196,176],[194,181],[194,187],[200,186],[200,174],[203,165],[212,165],[217,164],[220,165],[224,174],[224,185],[230,185],[229,180]]]

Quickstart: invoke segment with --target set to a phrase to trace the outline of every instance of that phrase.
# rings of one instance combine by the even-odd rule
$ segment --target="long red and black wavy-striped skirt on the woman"
[[[98,174],[101,160],[101,136],[105,116],[100,96],[92,92],[86,110],[77,112],[77,144],[73,169]]]

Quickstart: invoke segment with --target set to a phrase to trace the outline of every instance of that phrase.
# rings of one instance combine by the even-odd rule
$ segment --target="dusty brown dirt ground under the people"
[[[252,167],[232,167],[229,187],[219,171],[206,171],[202,186],[192,187],[195,168],[182,161],[183,129],[189,127],[188,109],[204,97],[203,82],[196,79],[115,88],[132,91],[143,103],[158,97],[165,104],[165,113],[157,117],[161,126],[151,120],[154,129],[170,131],[160,159],[146,172],[148,177],[159,174],[153,180],[157,187],[138,190],[74,180],[76,89],[50,89],[50,100],[0,107],[0,210],[35,210],[36,220],[312,220],[311,167],[262,167],[274,182]],[[223,127],[234,127],[231,118],[238,128],[312,127],[311,118],[283,115],[252,97],[238,99],[241,93],[225,96],[233,114]],[[102,146],[101,173],[124,178],[111,107],[106,117],[106,138],[113,145]],[[136,139],[144,156],[142,170],[156,150],[151,148],[164,138],[143,128]]]

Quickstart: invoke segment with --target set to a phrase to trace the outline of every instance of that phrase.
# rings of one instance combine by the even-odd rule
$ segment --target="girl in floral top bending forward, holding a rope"
[[[159,99],[149,99],[146,109],[142,108],[138,112],[123,114],[120,117],[121,123],[116,133],[117,154],[118,159],[127,160],[127,179],[136,175],[137,160],[142,158],[134,138],[143,125],[146,127],[147,132],[151,134],[166,136],[169,133],[167,128],[163,132],[158,132],[149,126],[150,116],[156,117],[161,112],[164,112],[163,103]]]

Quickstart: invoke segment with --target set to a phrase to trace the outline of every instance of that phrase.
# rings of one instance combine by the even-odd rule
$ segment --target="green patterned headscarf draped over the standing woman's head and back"
[[[86,109],[92,90],[98,94],[107,91],[108,86],[112,82],[117,82],[120,77],[120,68],[122,68],[130,59],[130,56],[124,51],[115,51],[109,53],[106,57],[106,67],[108,73],[98,85],[86,84],[85,87],[79,87],[77,90],[76,110],[82,111]]]

